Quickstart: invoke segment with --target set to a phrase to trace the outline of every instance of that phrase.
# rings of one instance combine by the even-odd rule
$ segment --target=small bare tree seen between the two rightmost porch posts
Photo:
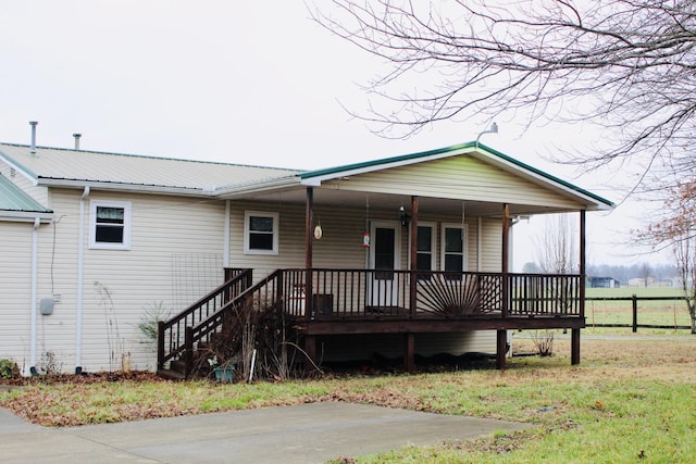
[[[547,274],[571,274],[577,268],[575,222],[568,214],[546,217],[542,231],[534,237],[539,267]]]

